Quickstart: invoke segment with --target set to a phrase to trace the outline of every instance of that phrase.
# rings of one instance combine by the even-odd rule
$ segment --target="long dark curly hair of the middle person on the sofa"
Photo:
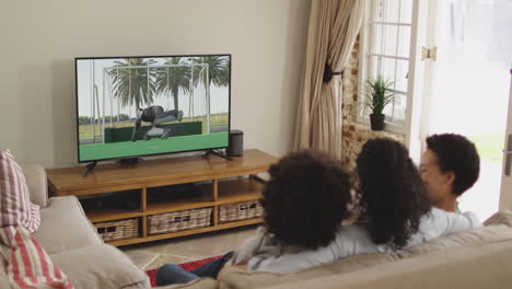
[[[363,146],[357,165],[361,218],[372,241],[404,246],[431,208],[407,149],[391,139],[372,139]]]

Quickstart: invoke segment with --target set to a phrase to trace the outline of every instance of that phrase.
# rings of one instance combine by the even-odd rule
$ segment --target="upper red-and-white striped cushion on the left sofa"
[[[33,233],[39,224],[39,206],[31,203],[22,169],[9,150],[0,150],[0,228],[21,226]]]

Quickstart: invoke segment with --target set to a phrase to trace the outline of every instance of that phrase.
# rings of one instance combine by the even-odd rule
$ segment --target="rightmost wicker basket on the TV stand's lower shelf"
[[[220,206],[219,222],[232,222],[261,217],[263,208],[257,199]]]

